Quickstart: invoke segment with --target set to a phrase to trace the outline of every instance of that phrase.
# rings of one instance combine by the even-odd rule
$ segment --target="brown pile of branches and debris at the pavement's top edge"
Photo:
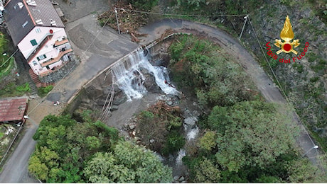
[[[117,1],[111,10],[102,13],[98,16],[98,21],[102,23],[107,23],[110,28],[118,31],[117,19],[114,10],[117,10],[117,18],[119,22],[119,30],[122,34],[130,34],[132,36],[133,42],[139,42],[137,37],[145,36],[144,34],[138,33],[136,30],[145,25],[149,17],[146,13],[139,13],[132,6],[132,4],[127,4],[124,1]]]

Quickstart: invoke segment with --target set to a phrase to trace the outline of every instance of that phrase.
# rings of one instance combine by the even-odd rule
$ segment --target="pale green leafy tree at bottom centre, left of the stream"
[[[152,151],[131,142],[119,142],[113,153],[95,154],[84,169],[92,183],[170,183],[171,172]]]

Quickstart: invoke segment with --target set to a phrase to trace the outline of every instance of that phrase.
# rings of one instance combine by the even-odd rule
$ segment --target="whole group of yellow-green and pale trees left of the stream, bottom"
[[[124,142],[118,130],[91,120],[90,113],[84,120],[46,116],[33,136],[28,171],[47,183],[171,182],[171,169],[153,152]]]

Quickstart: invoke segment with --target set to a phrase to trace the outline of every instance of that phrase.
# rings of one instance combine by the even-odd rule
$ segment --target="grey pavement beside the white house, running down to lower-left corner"
[[[78,0],[76,3],[80,4],[80,1],[85,0]],[[93,1],[90,2],[92,4]],[[100,9],[103,7],[100,6]],[[72,14],[73,18],[80,18],[70,21],[65,28],[73,50],[80,57],[81,62],[69,76],[66,76],[65,79],[56,84],[48,98],[45,100],[41,98],[34,99],[29,103],[28,116],[31,120],[27,121],[23,137],[21,138],[22,141],[16,143],[18,144],[16,149],[6,161],[0,173],[0,183],[38,183],[38,180],[33,178],[33,176],[28,175],[27,168],[28,159],[36,145],[32,137],[37,130],[38,123],[45,115],[60,114],[65,107],[65,103],[87,81],[90,81],[103,69],[139,47],[139,45],[130,41],[128,35],[117,35],[110,28],[102,29],[97,24],[97,16],[94,13],[85,13],[82,11],[83,9],[88,8],[77,8],[74,10],[82,13]],[[85,50],[87,51],[85,52]],[[53,106],[52,101],[54,99],[59,100],[63,104]]]

